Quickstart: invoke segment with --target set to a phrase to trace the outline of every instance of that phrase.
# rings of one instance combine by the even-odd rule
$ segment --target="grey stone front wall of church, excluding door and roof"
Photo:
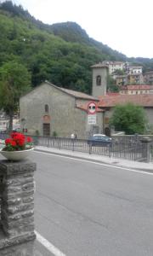
[[[48,113],[45,113],[46,104],[48,104]],[[21,124],[25,119],[28,133],[36,134],[36,131],[39,131],[39,135],[42,135],[43,116],[48,114],[51,136],[55,131],[58,137],[71,137],[72,132],[76,132],[78,138],[87,137],[87,113],[76,108],[76,104],[73,96],[43,84],[20,98]]]

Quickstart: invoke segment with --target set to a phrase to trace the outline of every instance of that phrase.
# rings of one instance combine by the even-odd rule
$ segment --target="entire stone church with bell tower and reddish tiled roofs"
[[[93,133],[110,135],[109,119],[116,104],[133,102],[144,107],[153,124],[153,94],[107,94],[108,67],[102,63],[92,66],[92,96],[58,87],[45,81],[20,97],[20,126],[28,134],[40,136],[87,138]],[[96,114],[90,114],[88,105],[94,102]]]

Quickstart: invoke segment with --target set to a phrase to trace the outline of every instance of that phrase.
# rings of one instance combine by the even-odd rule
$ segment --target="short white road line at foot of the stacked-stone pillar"
[[[41,236],[36,230],[35,234],[37,236],[37,241],[39,241],[43,247],[46,247],[50,253],[53,253],[54,256],[66,256],[64,253],[60,252],[57,247],[54,247],[50,241]]]

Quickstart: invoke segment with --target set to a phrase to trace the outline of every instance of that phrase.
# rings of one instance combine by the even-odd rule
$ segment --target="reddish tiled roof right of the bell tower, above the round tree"
[[[153,94],[99,96],[99,108],[111,108],[119,104],[133,103],[142,107],[153,107]]]

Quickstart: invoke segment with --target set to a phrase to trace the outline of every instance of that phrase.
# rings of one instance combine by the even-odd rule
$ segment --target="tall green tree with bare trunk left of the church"
[[[31,75],[27,68],[15,61],[0,67],[0,109],[8,114],[8,132],[13,128],[14,113],[19,110],[20,96],[31,89]]]

